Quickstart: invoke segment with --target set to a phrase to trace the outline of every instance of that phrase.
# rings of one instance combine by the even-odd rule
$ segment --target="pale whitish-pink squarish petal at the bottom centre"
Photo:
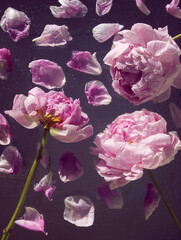
[[[63,217],[77,227],[89,227],[94,222],[95,208],[90,199],[84,196],[70,196],[65,198]]]

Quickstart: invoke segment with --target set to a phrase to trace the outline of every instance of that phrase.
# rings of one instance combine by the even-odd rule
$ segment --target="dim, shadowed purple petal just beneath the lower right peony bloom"
[[[123,207],[123,197],[119,188],[111,190],[108,183],[102,183],[97,188],[99,196],[111,209],[121,209]]]

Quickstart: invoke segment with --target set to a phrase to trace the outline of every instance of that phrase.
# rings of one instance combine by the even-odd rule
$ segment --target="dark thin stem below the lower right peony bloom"
[[[161,198],[163,199],[163,201],[164,201],[164,203],[165,203],[165,205],[166,205],[166,207],[167,207],[169,213],[171,214],[171,216],[172,216],[174,222],[176,223],[176,225],[177,225],[179,231],[181,232],[181,224],[180,224],[178,218],[176,217],[176,215],[175,215],[173,209],[171,208],[170,204],[168,203],[167,198],[166,198],[165,194],[163,193],[163,191],[162,191],[160,185],[158,184],[157,180],[155,179],[153,173],[152,173],[150,170],[148,170],[148,169],[145,169],[145,170],[146,170],[148,176],[150,177],[151,181],[152,181],[153,184],[155,185],[156,189],[158,190],[158,192],[159,192]]]

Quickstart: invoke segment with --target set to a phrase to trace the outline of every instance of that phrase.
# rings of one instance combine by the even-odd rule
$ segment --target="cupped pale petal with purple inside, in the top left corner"
[[[15,42],[29,35],[31,21],[24,12],[8,7],[1,18],[0,25]]]

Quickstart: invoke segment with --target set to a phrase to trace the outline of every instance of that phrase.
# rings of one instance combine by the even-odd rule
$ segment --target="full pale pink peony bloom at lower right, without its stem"
[[[146,109],[117,117],[95,144],[96,169],[111,189],[141,178],[144,168],[170,163],[181,149],[176,132],[167,133],[164,118]]]

